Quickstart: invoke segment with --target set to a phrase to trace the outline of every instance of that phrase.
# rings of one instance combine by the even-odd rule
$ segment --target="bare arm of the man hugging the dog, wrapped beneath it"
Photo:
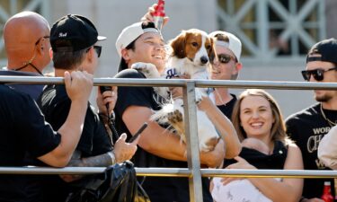
[[[182,143],[179,136],[169,132],[169,130],[160,127],[156,122],[149,120],[153,114],[152,110],[146,107],[129,106],[123,113],[122,119],[128,127],[131,134],[135,134],[137,129],[148,123],[148,127],[139,137],[138,145],[146,152],[155,154],[165,159],[175,161],[187,161],[186,145]],[[219,165],[224,157],[224,143],[220,141],[215,150],[200,155],[200,162],[210,167]]]

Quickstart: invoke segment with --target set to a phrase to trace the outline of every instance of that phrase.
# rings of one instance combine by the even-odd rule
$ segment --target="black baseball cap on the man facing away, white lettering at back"
[[[98,32],[89,19],[77,14],[68,14],[53,24],[50,30],[50,45],[54,52],[75,52],[93,46]]]

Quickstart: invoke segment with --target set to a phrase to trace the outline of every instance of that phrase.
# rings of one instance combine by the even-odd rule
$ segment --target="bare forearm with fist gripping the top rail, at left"
[[[40,157],[40,161],[51,166],[63,167],[70,161],[79,141],[84,125],[88,99],[93,88],[93,75],[86,72],[65,73],[67,94],[71,99],[71,107],[66,122],[58,129],[61,135],[60,144],[48,154]]]

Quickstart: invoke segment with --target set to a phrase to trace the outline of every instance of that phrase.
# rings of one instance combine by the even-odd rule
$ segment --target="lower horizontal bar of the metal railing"
[[[96,174],[105,171],[106,167],[0,167],[0,174]],[[193,177],[187,168],[135,168],[137,176],[152,177]],[[337,171],[312,170],[247,170],[247,169],[200,169],[202,177],[235,177],[235,178],[335,178]]]

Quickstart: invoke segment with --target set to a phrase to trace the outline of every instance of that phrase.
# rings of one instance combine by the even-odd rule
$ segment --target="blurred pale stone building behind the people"
[[[0,0],[0,26],[14,13],[36,11],[50,25],[67,13],[83,14],[108,37],[102,42],[100,69],[96,76],[113,76],[119,57],[115,40],[120,31],[139,21],[156,0]],[[316,41],[337,37],[335,0],[166,0],[170,22],[164,39],[182,30],[233,32],[243,42],[243,63],[239,79],[303,81],[305,55]],[[2,31],[2,29],[0,29]],[[4,41],[0,41],[0,63],[5,66]],[[235,90],[234,92],[240,92]],[[313,103],[310,91],[270,91],[285,115]],[[295,100],[295,101],[294,101]]]

